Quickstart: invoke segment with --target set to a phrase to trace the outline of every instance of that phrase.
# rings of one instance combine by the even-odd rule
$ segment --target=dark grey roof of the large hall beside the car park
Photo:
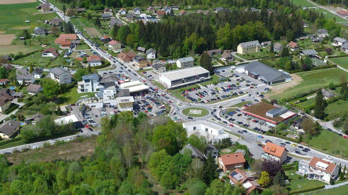
[[[253,61],[248,63],[244,67],[244,69],[258,74],[260,77],[263,77],[263,80],[266,80],[267,82],[279,80],[279,77],[282,77],[282,79],[291,78],[290,75],[286,75],[283,72],[275,70],[267,65],[264,65],[259,61]]]

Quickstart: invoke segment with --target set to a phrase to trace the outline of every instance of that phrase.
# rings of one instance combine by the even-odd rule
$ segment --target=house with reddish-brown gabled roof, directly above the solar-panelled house
[[[235,168],[244,168],[244,163],[246,162],[243,153],[230,153],[218,156],[219,167],[223,172],[234,170]]]

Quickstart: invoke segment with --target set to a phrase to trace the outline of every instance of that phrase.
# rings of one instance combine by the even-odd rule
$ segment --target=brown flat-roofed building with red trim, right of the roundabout
[[[266,122],[270,126],[276,126],[280,122],[286,123],[297,117],[295,112],[289,111],[283,106],[274,106],[268,103],[259,102],[242,110],[244,115]]]

